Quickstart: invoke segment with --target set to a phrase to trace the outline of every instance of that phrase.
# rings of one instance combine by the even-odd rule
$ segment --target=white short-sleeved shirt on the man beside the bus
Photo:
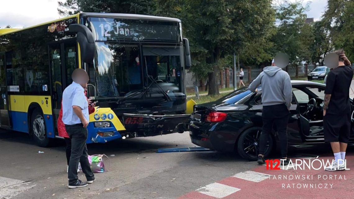
[[[84,88],[75,82],[70,84],[63,92],[63,123],[66,125],[80,124],[80,118],[75,114],[73,106],[78,106],[87,121],[89,118],[89,105],[84,93]]]

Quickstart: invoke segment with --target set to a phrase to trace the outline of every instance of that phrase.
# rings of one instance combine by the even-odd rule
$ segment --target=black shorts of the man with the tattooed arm
[[[323,117],[323,132],[325,142],[348,143],[351,130],[350,112],[341,115],[329,114]]]

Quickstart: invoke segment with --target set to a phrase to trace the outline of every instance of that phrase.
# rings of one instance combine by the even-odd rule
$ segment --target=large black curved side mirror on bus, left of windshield
[[[80,46],[81,61],[85,63],[93,62],[95,57],[95,39],[89,28],[82,24],[69,25],[70,33],[77,33],[76,40]]]

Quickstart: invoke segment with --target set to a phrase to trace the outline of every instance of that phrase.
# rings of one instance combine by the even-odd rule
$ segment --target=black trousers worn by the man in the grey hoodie
[[[259,137],[259,154],[264,154],[265,146],[272,132],[273,125],[278,131],[281,157],[287,157],[287,124],[289,122],[289,110],[285,104],[276,104],[271,106],[263,106],[262,133]]]

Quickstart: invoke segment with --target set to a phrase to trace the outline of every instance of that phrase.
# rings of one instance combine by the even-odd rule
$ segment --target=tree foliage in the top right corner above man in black
[[[330,32],[330,41],[335,49],[344,49],[349,60],[354,60],[354,1],[328,0],[322,16],[324,27]]]

